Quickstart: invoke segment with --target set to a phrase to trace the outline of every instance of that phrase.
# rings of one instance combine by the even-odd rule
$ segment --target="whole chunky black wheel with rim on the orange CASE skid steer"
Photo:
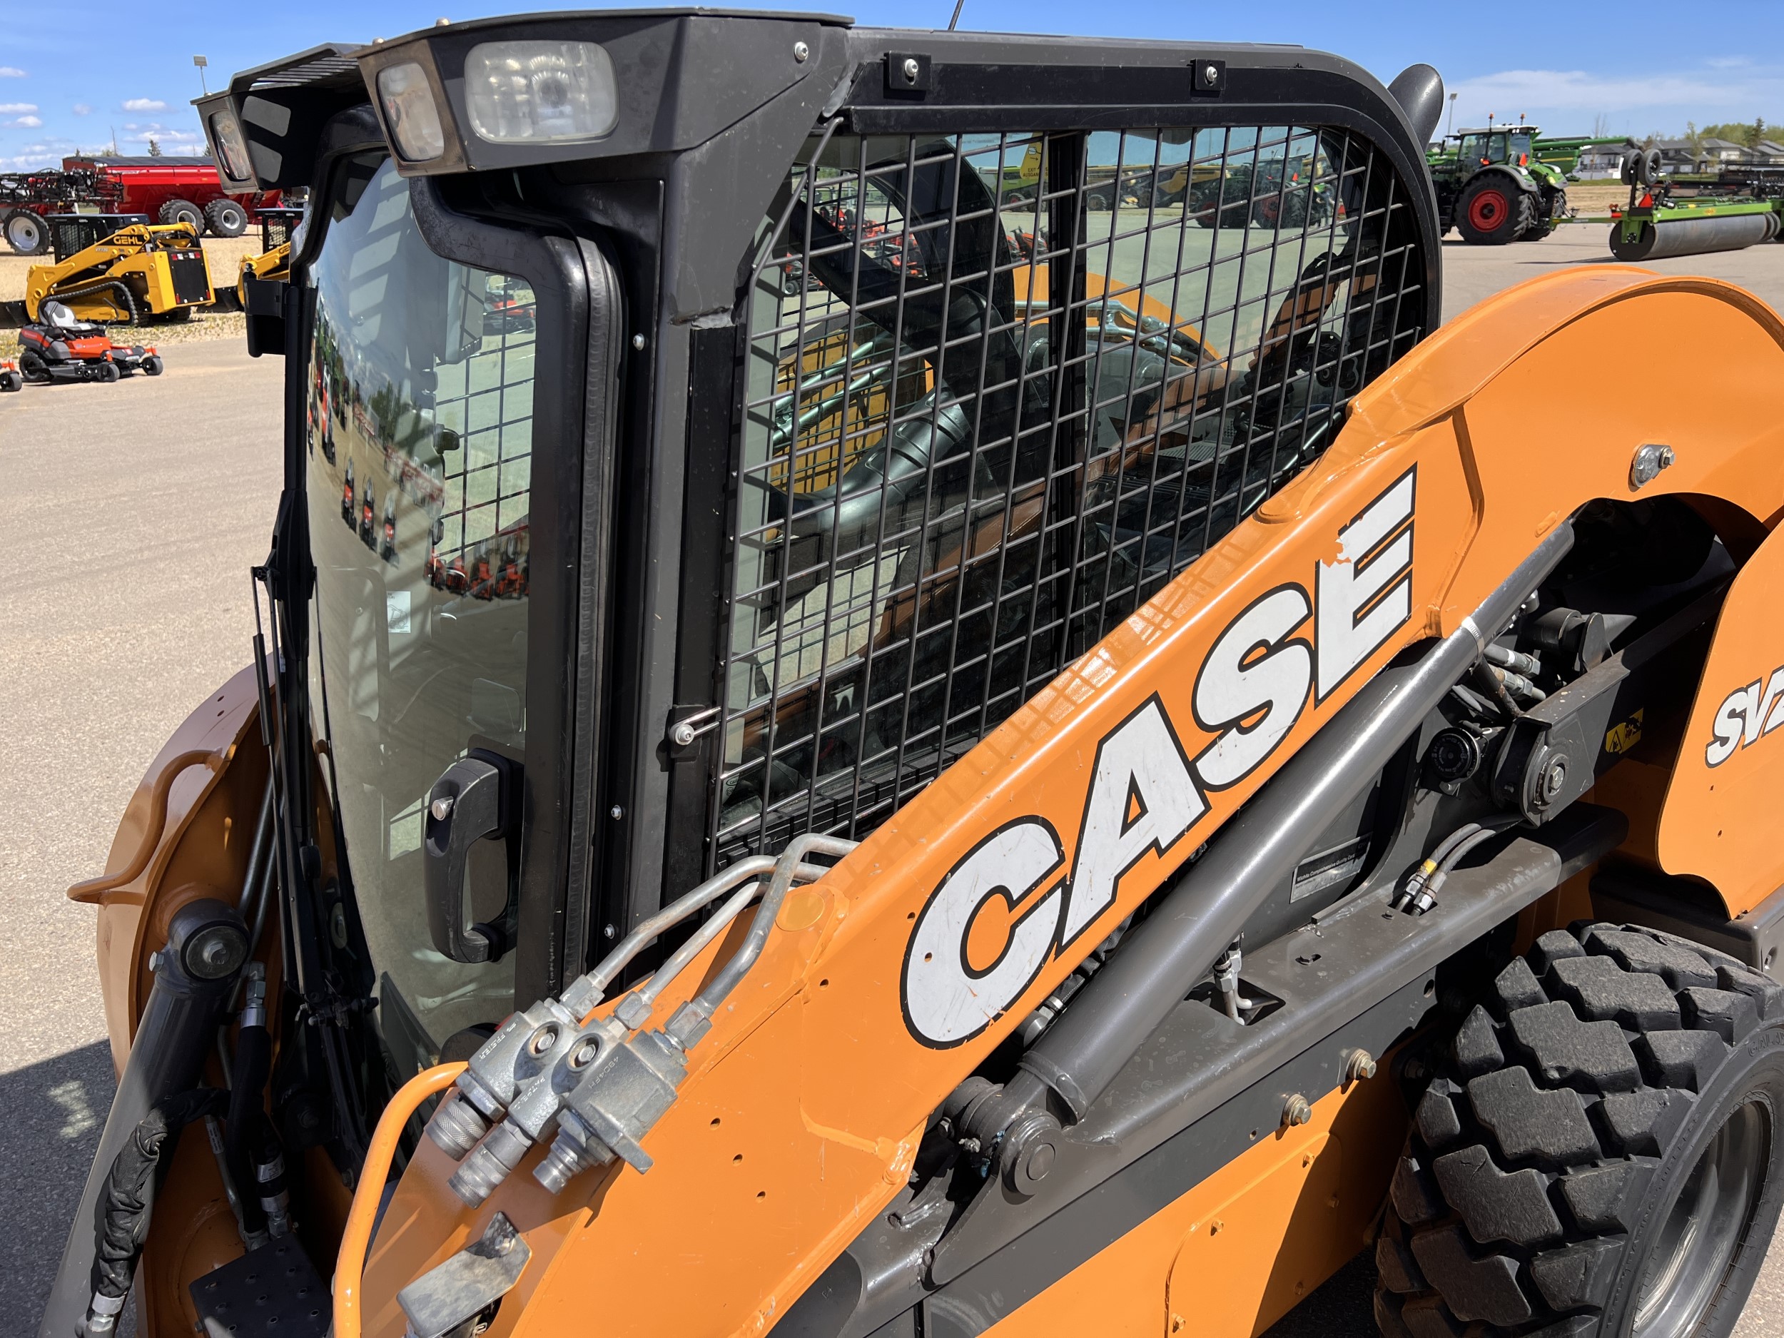
[[[1375,1247],[1393,1338],[1725,1338],[1784,1201],[1784,987],[1541,935],[1425,1086]]]

